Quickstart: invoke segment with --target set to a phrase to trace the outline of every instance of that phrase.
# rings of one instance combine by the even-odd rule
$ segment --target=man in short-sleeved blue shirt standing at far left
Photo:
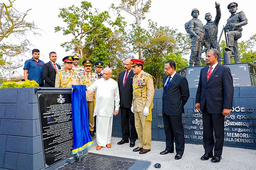
[[[45,64],[42,60],[39,60],[40,51],[39,49],[32,50],[32,58],[25,61],[24,64],[24,80],[35,80],[40,87],[44,86],[44,79],[42,76],[43,65]]]

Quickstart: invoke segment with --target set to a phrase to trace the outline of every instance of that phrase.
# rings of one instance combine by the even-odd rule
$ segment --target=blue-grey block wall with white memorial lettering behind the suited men
[[[190,88],[189,91],[190,97],[184,107],[185,113],[182,115],[185,141],[186,143],[202,144],[202,114],[198,114],[194,110],[197,88]],[[165,141],[162,93],[161,89],[155,89],[152,110],[152,140],[156,141]],[[256,149],[256,86],[235,87],[233,107],[234,110],[230,116],[225,118],[224,145]],[[245,112],[241,111],[241,108],[245,108]],[[114,117],[112,135],[122,137],[121,114]]]

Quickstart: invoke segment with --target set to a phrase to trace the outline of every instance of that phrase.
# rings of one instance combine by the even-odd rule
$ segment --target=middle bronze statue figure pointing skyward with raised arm
[[[216,16],[214,21],[211,20],[211,13],[206,13],[204,16],[204,19],[207,21],[204,25],[204,42],[207,49],[217,49],[220,53],[217,40],[219,20],[221,19],[220,4],[215,2],[215,8]],[[219,63],[221,62],[220,58],[221,57],[218,58]]]

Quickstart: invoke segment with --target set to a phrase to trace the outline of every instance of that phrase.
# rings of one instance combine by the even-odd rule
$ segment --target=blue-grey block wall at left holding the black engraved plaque
[[[0,169],[45,169],[35,88],[0,89],[0,96]]]

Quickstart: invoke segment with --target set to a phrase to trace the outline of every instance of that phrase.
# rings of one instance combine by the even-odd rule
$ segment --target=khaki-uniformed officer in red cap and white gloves
[[[132,59],[133,102],[132,112],[135,117],[135,128],[139,137],[139,146],[134,152],[146,154],[151,150],[151,121],[154,99],[154,83],[150,74],[143,71],[144,61]]]

